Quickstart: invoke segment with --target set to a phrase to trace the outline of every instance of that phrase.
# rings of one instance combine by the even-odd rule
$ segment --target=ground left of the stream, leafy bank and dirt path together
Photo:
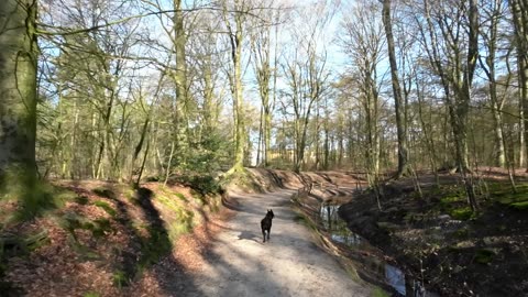
[[[0,296],[371,296],[293,211],[298,180],[278,189],[261,177],[266,193],[222,197],[177,184],[58,182],[61,204],[24,222],[3,200]]]

